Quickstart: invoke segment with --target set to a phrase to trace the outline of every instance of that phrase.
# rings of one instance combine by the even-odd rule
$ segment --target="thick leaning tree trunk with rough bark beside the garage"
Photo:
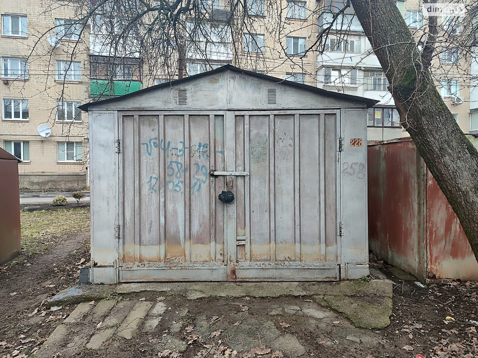
[[[384,69],[402,126],[456,213],[478,260],[478,152],[431,78],[393,0],[351,0]]]

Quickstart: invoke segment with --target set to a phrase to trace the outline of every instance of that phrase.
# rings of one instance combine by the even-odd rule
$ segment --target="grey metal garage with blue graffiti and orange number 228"
[[[92,282],[368,274],[373,105],[226,65],[81,106]]]

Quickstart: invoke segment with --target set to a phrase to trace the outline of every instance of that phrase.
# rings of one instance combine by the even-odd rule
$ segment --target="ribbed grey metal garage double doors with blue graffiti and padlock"
[[[119,120],[121,282],[338,279],[337,111]]]

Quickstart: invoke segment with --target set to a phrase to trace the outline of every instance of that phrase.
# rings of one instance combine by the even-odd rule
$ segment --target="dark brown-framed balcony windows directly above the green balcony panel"
[[[91,56],[90,77],[102,80],[141,81],[141,60]]]

